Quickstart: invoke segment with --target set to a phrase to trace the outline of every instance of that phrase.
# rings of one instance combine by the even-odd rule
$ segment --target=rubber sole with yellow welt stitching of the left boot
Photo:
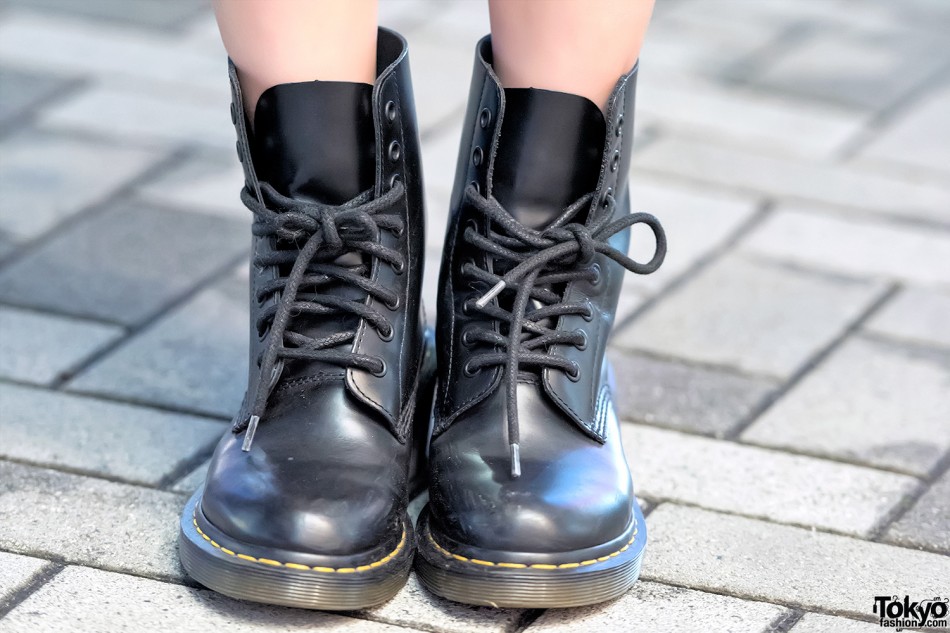
[[[374,607],[395,596],[409,577],[414,535],[408,516],[400,543],[388,554],[357,566],[310,566],[252,556],[220,545],[202,530],[195,512],[202,489],[188,501],[181,517],[179,557],[188,575],[205,587],[239,600],[304,609],[354,611]],[[305,555],[300,557],[306,560]]]

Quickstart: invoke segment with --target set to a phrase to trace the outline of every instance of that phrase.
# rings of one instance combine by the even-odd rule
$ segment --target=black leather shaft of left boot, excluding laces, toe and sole
[[[334,89],[330,84],[336,82],[326,82],[323,86],[319,84],[324,82],[288,84],[265,92],[259,106],[263,110],[257,113],[258,121],[262,122],[257,136],[250,130],[245,116],[237,69],[229,64],[232,121],[237,132],[237,153],[243,165],[245,189],[259,204],[265,205],[262,187],[266,184],[291,198],[325,204],[345,202],[354,196],[354,190],[359,194],[358,190],[363,188],[371,190],[372,198],[383,196],[397,183],[404,188],[398,203],[386,211],[402,221],[404,230],[379,231],[379,242],[383,247],[400,252],[406,265],[398,269],[374,260],[368,275],[372,282],[395,293],[396,307],[383,305],[370,296],[363,299],[368,307],[387,313],[392,332],[383,337],[365,321],[355,318],[353,325],[357,335],[346,346],[349,353],[382,359],[385,367],[376,374],[354,368],[342,373],[350,396],[375,411],[381,422],[398,437],[405,438],[412,418],[412,394],[418,378],[419,350],[425,328],[420,304],[425,239],[423,182],[405,40],[393,31],[379,29],[377,60],[376,82],[371,88],[365,86],[370,91],[368,100],[359,84],[344,84]],[[323,120],[315,118],[320,113],[324,115]],[[341,136],[332,129],[332,123],[328,123],[347,116],[354,121]],[[368,131],[367,126],[357,120],[361,116],[368,119]],[[367,151],[370,156],[366,156]],[[267,245],[261,243],[267,239],[272,240],[254,238],[255,254],[267,249]],[[262,311],[273,309],[279,301],[277,295],[263,303],[255,299],[258,290],[277,274],[273,268],[251,266],[251,371],[248,397],[236,421],[239,425],[250,418],[252,394],[262,388],[261,381],[273,379],[255,371],[267,333],[258,332],[254,323]],[[353,291],[347,289],[350,295]],[[362,296],[359,292],[356,295]],[[348,295],[347,298],[353,297]],[[322,333],[322,328],[328,328],[328,332],[338,328],[338,319],[332,315],[323,317],[322,321],[309,318],[306,334],[315,336]],[[339,367],[319,361],[291,361],[282,366],[279,373],[276,380],[281,382],[306,383],[341,371]]]

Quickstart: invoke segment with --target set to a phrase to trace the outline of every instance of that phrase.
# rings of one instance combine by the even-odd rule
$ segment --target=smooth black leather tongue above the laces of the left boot
[[[342,204],[376,178],[373,86],[345,81],[280,84],[261,95],[251,152],[279,193]]]

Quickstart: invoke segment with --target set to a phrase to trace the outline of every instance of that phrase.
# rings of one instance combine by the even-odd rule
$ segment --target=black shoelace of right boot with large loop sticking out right
[[[491,289],[478,300],[466,302],[466,310],[479,310],[492,321],[508,325],[507,336],[489,328],[472,328],[463,334],[469,346],[481,345],[501,351],[483,351],[473,354],[464,367],[468,375],[485,367],[504,366],[507,390],[508,445],[511,457],[511,476],[521,476],[520,438],[518,431],[518,372],[522,366],[555,368],[572,380],[580,377],[580,367],[574,361],[548,353],[552,345],[574,345],[580,349],[587,344],[580,330],[571,332],[548,327],[551,319],[569,314],[593,318],[589,301],[566,302],[558,287],[577,280],[596,281],[597,269],[592,266],[598,253],[607,256],[632,273],[646,275],[654,272],[666,256],[666,234],[659,220],[648,213],[631,213],[608,222],[616,201],[607,198],[603,220],[587,227],[571,220],[589,206],[594,194],[587,194],[571,204],[549,227],[532,229],[518,222],[494,198],[482,197],[473,186],[465,191],[467,201],[489,220],[489,228],[482,235],[468,226],[464,239],[476,249],[487,253],[493,268],[500,275],[469,261],[462,266],[462,274],[487,284]],[[656,238],[656,250],[647,263],[640,263],[610,246],[608,239],[635,224],[645,224]],[[506,310],[491,301],[504,290],[514,291],[511,309]],[[527,313],[529,301],[535,309]],[[526,335],[526,336],[525,336]]]

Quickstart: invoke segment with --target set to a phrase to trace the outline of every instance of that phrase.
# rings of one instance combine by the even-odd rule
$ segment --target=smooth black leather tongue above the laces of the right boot
[[[525,226],[547,226],[597,187],[606,133],[600,108],[585,97],[505,88],[492,195]]]

